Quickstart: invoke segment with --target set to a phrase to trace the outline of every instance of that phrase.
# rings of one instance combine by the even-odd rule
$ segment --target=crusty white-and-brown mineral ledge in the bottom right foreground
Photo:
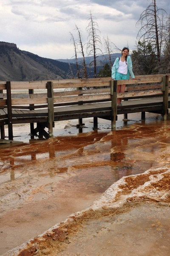
[[[169,214],[170,169],[150,169],[122,177],[89,208],[3,256],[166,256]]]

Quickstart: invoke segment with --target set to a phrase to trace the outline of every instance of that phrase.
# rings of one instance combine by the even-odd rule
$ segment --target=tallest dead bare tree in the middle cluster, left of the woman
[[[102,42],[100,36],[97,33],[100,33],[98,29],[98,24],[94,21],[94,17],[90,13],[89,15],[89,23],[86,27],[88,32],[88,43],[87,43],[87,54],[93,55],[93,61],[91,61],[90,66],[94,65],[94,78],[96,78],[96,65],[97,65],[97,56],[99,55],[98,52],[102,54]]]

